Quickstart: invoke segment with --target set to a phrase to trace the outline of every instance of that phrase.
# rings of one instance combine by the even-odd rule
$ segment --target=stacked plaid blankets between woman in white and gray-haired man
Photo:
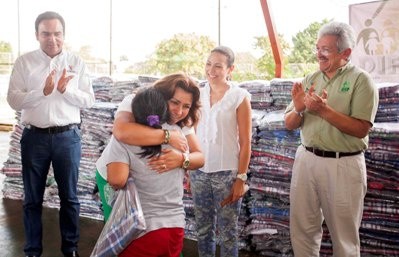
[[[250,249],[262,256],[292,256],[289,233],[289,187],[299,130],[284,125],[294,80],[269,83],[268,108],[254,105],[252,158],[249,169],[248,215],[245,232]],[[266,98],[265,98],[266,99]],[[258,104],[263,106],[263,104]]]

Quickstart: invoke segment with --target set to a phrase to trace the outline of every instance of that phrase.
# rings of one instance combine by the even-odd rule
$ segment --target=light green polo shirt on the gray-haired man
[[[378,108],[378,89],[370,75],[351,63],[341,67],[329,79],[323,72],[309,74],[303,80],[306,91],[315,84],[315,92],[327,91],[327,104],[334,110],[350,117],[374,123]],[[293,102],[285,112],[294,108]],[[305,111],[301,126],[301,142],[326,151],[356,152],[368,147],[368,136],[357,138],[342,133],[321,117]]]

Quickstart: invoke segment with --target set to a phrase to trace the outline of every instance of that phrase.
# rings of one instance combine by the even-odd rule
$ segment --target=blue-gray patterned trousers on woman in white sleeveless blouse
[[[220,256],[238,256],[237,223],[241,199],[223,208],[220,206],[230,194],[236,174],[237,172],[231,170],[214,173],[200,170],[190,172],[200,257],[215,256],[217,243],[220,244]]]

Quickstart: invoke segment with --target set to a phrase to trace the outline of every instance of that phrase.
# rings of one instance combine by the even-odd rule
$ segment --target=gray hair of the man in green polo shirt
[[[355,31],[349,24],[337,21],[327,23],[320,28],[318,38],[326,35],[337,37],[337,47],[339,52],[347,48],[353,49],[355,47]]]

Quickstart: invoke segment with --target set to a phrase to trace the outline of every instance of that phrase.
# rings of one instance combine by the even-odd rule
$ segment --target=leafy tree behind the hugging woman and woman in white
[[[176,34],[157,45],[146,62],[145,70],[147,74],[156,75],[182,71],[193,77],[203,78],[206,58],[215,45],[208,36]]]

